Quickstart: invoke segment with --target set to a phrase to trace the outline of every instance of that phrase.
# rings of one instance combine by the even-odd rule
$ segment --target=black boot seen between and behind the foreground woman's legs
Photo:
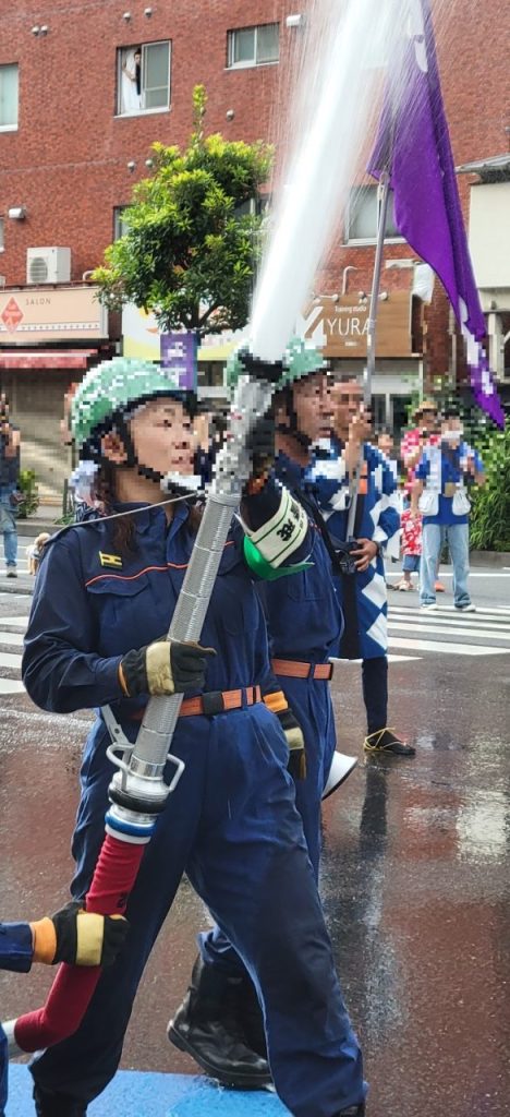
[[[214,966],[205,966],[199,956],[167,1035],[174,1047],[191,1054],[222,1086],[258,1090],[269,1086],[271,1071],[267,1060],[247,1044],[238,1011],[241,984],[229,981]]]

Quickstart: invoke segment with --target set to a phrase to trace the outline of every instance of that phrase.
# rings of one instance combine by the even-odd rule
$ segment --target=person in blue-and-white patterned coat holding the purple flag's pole
[[[345,631],[340,656],[360,659],[367,716],[364,748],[369,753],[414,756],[413,745],[388,726],[387,591],[384,554],[398,544],[400,515],[396,481],[388,461],[368,441],[372,427],[364,412],[363,389],[346,376],[335,383],[334,430],[329,454],[317,460],[312,480],[329,534],[348,542],[348,510],[353,477],[362,462],[353,538],[353,573],[337,579]],[[397,553],[397,550],[396,552]]]

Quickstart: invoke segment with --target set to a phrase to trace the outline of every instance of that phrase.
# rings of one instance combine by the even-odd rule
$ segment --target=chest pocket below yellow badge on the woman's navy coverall
[[[174,596],[165,572],[155,576],[161,579],[160,592],[147,574],[105,576],[87,586],[100,655],[124,655],[131,648],[142,648],[157,640],[167,631]]]

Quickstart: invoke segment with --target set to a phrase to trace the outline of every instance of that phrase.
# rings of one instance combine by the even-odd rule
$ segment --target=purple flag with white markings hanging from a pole
[[[388,75],[368,171],[389,173],[395,225],[440,277],[468,346],[479,407],[499,426],[504,413],[480,345],[485,319],[465,236],[441,92],[430,0],[410,0],[410,32]]]

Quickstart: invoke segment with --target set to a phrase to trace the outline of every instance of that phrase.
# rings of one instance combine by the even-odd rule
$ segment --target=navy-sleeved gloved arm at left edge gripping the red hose
[[[36,923],[0,923],[0,970],[28,974],[32,962],[54,966],[112,965],[127,932],[123,916],[90,915],[68,904]],[[0,1117],[7,1105],[7,1035],[0,1024]]]

